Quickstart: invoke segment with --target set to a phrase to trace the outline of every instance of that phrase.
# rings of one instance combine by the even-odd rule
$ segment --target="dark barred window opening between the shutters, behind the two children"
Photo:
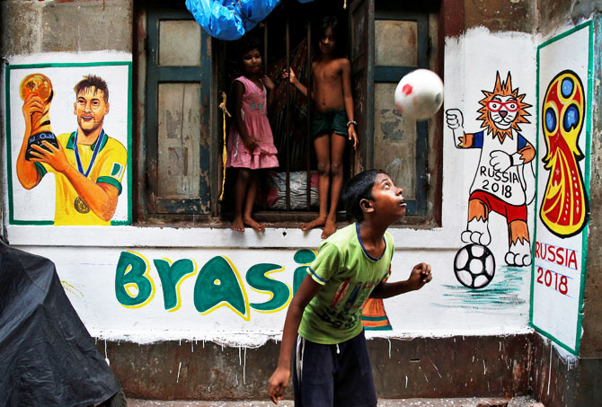
[[[280,4],[264,22],[245,34],[263,40],[264,72],[276,85],[273,91],[274,103],[268,115],[274,144],[279,151],[280,166],[266,172],[258,190],[253,216],[263,222],[305,222],[317,216],[317,168],[311,137],[312,111],[308,102],[312,86],[312,36],[315,35],[313,30],[317,26],[314,20],[317,16],[322,18],[328,13],[336,14],[342,33],[346,31],[347,20],[346,10],[341,8],[341,4],[324,7],[326,2],[314,3],[316,4]],[[346,47],[344,36],[341,47]],[[237,69],[235,42],[227,42],[225,48],[227,72],[223,87],[230,95],[231,84],[241,73]],[[290,68],[294,70],[298,80],[307,86],[307,97],[297,91],[295,86],[288,84],[288,79],[282,78],[282,72]],[[230,119],[229,126],[233,125]],[[348,145],[346,149],[350,148],[352,147]],[[349,160],[344,161],[346,174],[349,174]],[[226,169],[226,193],[222,201],[225,220],[229,220],[234,212],[232,190],[235,178],[235,170]],[[340,212],[341,208],[340,204]],[[344,218],[343,214],[341,212],[340,220]]]

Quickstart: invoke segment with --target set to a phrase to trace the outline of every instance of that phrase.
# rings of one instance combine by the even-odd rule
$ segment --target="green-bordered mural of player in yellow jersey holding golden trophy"
[[[130,223],[130,77],[129,62],[7,67],[11,223]]]

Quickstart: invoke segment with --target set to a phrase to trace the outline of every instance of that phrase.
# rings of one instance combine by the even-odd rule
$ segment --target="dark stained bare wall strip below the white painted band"
[[[370,340],[376,392],[394,400],[527,395],[533,335]],[[97,347],[105,355],[104,341]],[[190,341],[106,344],[128,397],[149,400],[266,399],[278,354],[276,342],[257,349]]]

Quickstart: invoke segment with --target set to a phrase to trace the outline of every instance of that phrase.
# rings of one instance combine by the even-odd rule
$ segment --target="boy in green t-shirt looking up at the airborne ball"
[[[422,288],[430,265],[413,267],[410,278],[388,283],[394,242],[386,232],[405,214],[403,190],[381,170],[354,176],[342,193],[356,220],[321,245],[288,306],[270,398],[279,402],[293,366],[295,405],[376,406],[372,367],[361,312],[369,296],[388,298]]]

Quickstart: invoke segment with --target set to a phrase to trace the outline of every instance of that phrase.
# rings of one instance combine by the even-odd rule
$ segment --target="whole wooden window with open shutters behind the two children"
[[[355,0],[346,10],[340,2],[328,0],[289,1],[251,31],[263,40],[264,71],[276,84],[269,113],[280,161],[276,171],[262,177],[254,209],[258,221],[297,227],[313,220],[318,212],[309,100],[312,45],[324,15],[339,19],[343,34],[339,43],[351,62],[354,114],[359,122],[358,152],[353,153],[349,143],[346,146],[345,181],[362,169],[381,167],[405,191],[409,208],[404,224],[428,221],[433,206],[438,210],[440,190],[436,196],[427,181],[429,172],[434,173],[435,186],[440,187],[440,151],[429,152],[429,144],[435,139],[432,145],[441,146],[435,135],[441,131],[441,118],[418,122],[415,127],[402,123],[395,116],[392,93],[401,76],[412,69],[442,66],[438,65],[442,54],[437,46],[442,37],[429,37],[429,31],[441,30],[443,20],[437,23],[440,7],[438,0],[421,5],[380,0],[377,6],[375,0]],[[230,83],[239,74],[235,72],[235,41],[210,38],[183,7],[174,10],[153,4],[139,10],[146,19],[146,63],[139,69],[144,73],[140,92],[145,94],[139,151],[146,161],[138,167],[138,178],[144,180],[138,182],[138,220],[207,224],[221,216],[227,222],[234,213],[236,174],[228,169],[224,200],[218,201],[222,118],[217,104],[222,90],[232,102]],[[431,41],[439,49],[435,57]],[[138,44],[142,47],[141,40]],[[281,77],[282,71],[291,67],[307,87],[309,98]],[[228,108],[231,110],[231,104]],[[395,158],[401,158],[401,164],[395,166]],[[434,163],[432,168],[429,161],[431,166]],[[343,205],[338,208],[338,220],[342,221]]]

